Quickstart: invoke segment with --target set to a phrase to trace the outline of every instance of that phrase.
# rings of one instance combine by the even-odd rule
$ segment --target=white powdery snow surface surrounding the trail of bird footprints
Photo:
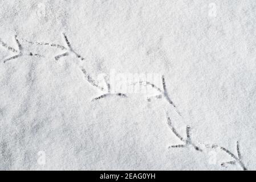
[[[0,169],[255,170],[255,17],[254,0],[0,1]],[[164,75],[176,108],[92,101],[82,68]]]

